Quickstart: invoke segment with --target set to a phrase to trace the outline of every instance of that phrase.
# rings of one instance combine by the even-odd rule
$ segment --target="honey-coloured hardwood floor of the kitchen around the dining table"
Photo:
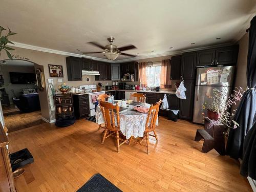
[[[200,152],[202,142],[194,141],[198,127],[160,117],[159,141],[150,138],[150,155],[133,143],[123,144],[118,154],[114,139],[101,144],[103,130],[84,119],[12,134],[10,151],[27,147],[35,161],[15,180],[17,191],[76,191],[96,173],[123,191],[252,191],[237,161]]]

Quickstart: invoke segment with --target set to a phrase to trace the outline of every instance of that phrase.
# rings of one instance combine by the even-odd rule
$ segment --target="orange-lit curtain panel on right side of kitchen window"
[[[170,80],[170,59],[162,60],[160,88],[171,88],[172,80]]]

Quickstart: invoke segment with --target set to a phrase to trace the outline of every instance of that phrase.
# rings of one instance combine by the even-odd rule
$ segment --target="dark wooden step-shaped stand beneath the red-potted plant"
[[[207,153],[215,149],[220,155],[225,155],[225,137],[223,132],[225,126],[223,124],[210,126],[210,119],[205,118],[204,130],[198,129],[195,141],[204,140],[202,153]]]

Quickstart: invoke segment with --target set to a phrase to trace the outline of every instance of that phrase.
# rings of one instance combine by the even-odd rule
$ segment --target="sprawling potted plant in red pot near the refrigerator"
[[[202,105],[203,110],[207,108],[207,116],[211,120],[210,126],[222,123],[229,128],[236,129],[239,124],[233,120],[233,117],[237,110],[232,110],[231,114],[228,111],[230,111],[233,104],[237,105],[237,102],[241,100],[244,94],[243,89],[241,87],[235,88],[233,90],[233,94],[231,94],[229,97],[227,95],[227,88],[221,91],[214,89],[212,92],[214,94],[214,100],[212,103],[208,104],[205,102]]]

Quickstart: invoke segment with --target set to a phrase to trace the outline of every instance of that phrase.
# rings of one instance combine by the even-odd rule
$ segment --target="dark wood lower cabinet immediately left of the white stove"
[[[88,117],[90,113],[89,95],[73,94],[74,112],[77,119]]]

